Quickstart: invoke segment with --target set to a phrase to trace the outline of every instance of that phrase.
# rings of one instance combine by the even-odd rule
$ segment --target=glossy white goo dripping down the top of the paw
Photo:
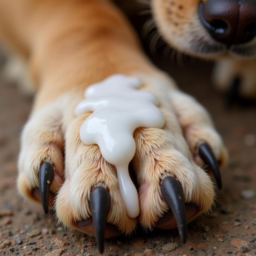
[[[133,132],[138,127],[162,128],[165,122],[156,97],[137,90],[140,86],[136,77],[109,76],[89,86],[85,100],[76,106],[76,115],[93,111],[80,128],[80,138],[87,145],[98,144],[104,159],[116,167],[120,193],[131,218],[140,213],[138,193],[128,171],[135,154]]]

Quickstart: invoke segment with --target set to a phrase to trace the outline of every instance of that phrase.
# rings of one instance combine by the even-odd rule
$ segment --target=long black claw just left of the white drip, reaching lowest
[[[90,207],[97,246],[100,253],[103,253],[105,227],[110,208],[110,196],[106,188],[97,187],[92,190]]]

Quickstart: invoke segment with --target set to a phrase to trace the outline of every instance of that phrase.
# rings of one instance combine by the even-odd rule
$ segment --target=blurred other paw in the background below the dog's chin
[[[229,101],[256,99],[256,60],[220,60],[215,64],[213,82]]]

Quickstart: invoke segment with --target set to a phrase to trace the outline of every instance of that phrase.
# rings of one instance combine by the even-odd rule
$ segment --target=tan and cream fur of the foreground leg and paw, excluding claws
[[[89,113],[74,115],[86,86],[123,73],[142,79],[143,90],[156,94],[166,118],[164,129],[140,128],[134,133],[137,148],[131,166],[140,186],[140,224],[152,228],[167,211],[160,192],[160,180],[167,175],[180,181],[185,202],[198,207],[196,215],[210,209],[213,183],[196,165],[195,161],[200,164],[196,150],[205,140],[224,163],[220,136],[206,110],[177,91],[172,79],[150,63],[116,7],[103,0],[5,0],[1,4],[3,37],[28,58],[39,87],[21,137],[20,193],[33,198],[30,193],[38,186],[39,166],[49,161],[55,167],[51,191],[58,193],[55,211],[60,222],[78,228],[78,220],[91,218],[90,192],[101,185],[111,197],[108,222],[126,234],[134,230],[137,220],[125,212],[114,166],[102,158],[97,145],[80,140],[79,129]],[[172,88],[170,95],[164,95],[164,86]]]

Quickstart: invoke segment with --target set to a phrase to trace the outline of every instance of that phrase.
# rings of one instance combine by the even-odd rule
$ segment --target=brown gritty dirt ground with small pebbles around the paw
[[[224,107],[225,97],[212,87],[211,64],[178,68],[158,61],[211,113],[229,150],[222,170],[223,189],[217,191],[212,213],[188,225],[187,244],[176,230],[108,239],[104,255],[254,255],[256,254],[256,109]],[[32,105],[17,85],[1,79],[1,211],[0,255],[98,255],[93,237],[57,225],[53,212],[23,200],[15,186],[19,137]],[[175,249],[176,248],[176,249]],[[173,251],[170,251],[173,250]]]

